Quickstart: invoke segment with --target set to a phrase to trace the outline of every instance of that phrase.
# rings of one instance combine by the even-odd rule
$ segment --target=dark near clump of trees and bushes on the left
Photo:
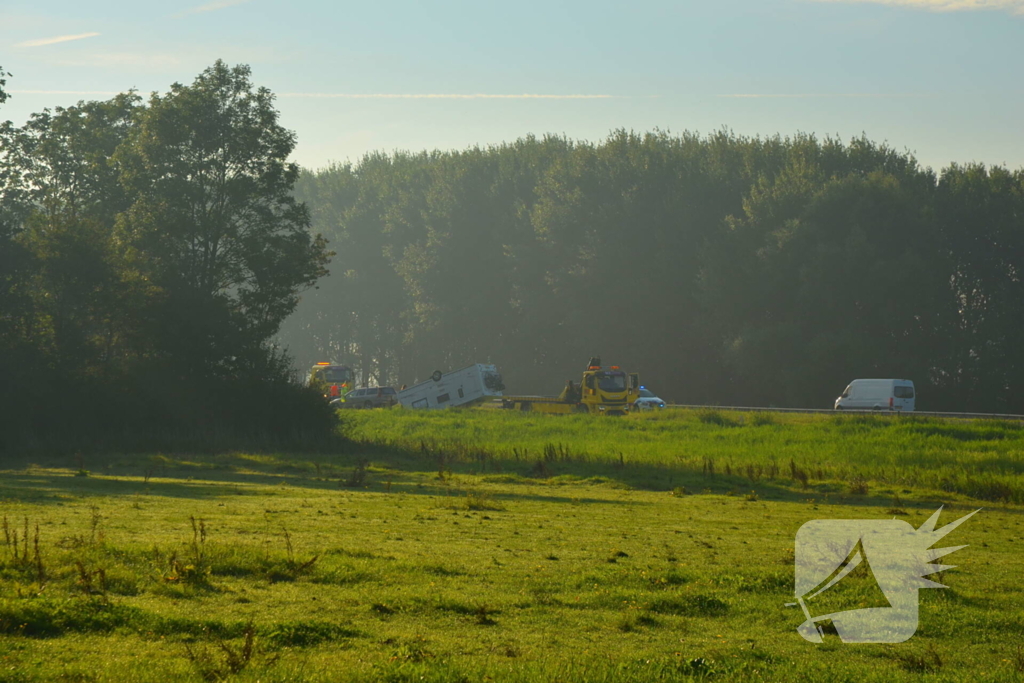
[[[271,340],[330,260],[294,146],[221,61],[0,125],[0,449],[330,431]]]

